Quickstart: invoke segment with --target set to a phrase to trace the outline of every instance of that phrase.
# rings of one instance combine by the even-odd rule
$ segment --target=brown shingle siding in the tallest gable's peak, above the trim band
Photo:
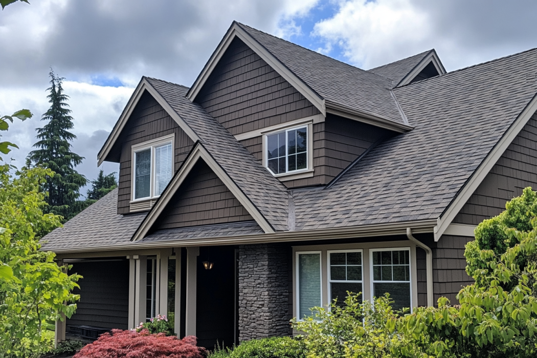
[[[320,113],[237,38],[195,101],[233,135]]]

